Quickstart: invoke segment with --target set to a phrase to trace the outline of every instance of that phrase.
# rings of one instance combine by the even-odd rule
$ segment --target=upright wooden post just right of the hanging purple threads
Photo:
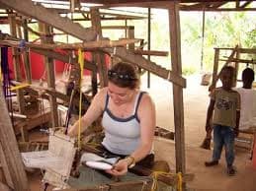
[[[16,31],[16,15],[9,14],[9,25],[10,25],[10,32],[14,37],[17,37]],[[20,62],[20,55],[18,48],[12,48],[13,52],[13,64],[14,64],[14,76],[15,80],[18,82],[22,82],[22,75],[21,75],[21,62]],[[21,114],[25,113],[25,99],[22,90],[17,90],[17,99],[19,105],[19,111]]]

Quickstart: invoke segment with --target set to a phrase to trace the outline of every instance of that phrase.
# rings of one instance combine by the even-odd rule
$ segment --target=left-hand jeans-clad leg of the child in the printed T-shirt
[[[213,126],[213,161],[220,159],[224,140],[221,134],[221,125]]]

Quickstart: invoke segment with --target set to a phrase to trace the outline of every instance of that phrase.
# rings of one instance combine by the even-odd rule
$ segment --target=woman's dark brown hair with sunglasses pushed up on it
[[[115,64],[108,71],[108,79],[110,82],[121,88],[133,90],[139,86],[139,79],[135,68],[125,62]]]

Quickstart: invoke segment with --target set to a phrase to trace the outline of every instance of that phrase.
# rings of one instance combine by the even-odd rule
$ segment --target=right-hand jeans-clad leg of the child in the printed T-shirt
[[[234,131],[231,127],[224,130],[225,160],[227,166],[232,166],[234,161]]]

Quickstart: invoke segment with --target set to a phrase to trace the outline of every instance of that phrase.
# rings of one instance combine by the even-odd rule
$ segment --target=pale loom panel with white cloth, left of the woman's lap
[[[50,130],[48,150],[22,153],[22,158],[27,167],[45,170],[43,183],[65,189],[76,150],[74,139]]]

